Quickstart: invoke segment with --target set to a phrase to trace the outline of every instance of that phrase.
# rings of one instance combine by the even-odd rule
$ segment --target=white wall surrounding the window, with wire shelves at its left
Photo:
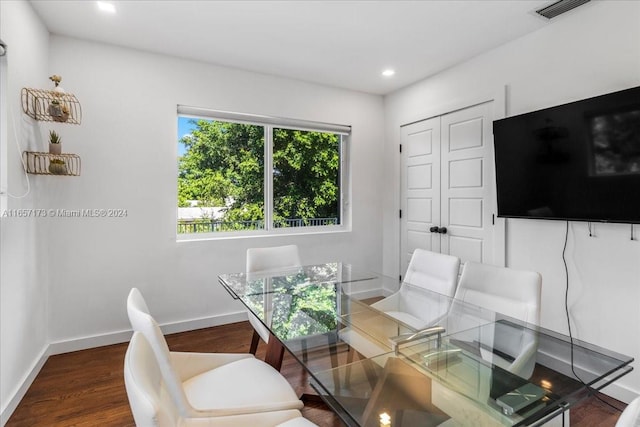
[[[243,318],[216,276],[244,270],[253,246],[297,243],[305,263],[344,259],[380,270],[382,97],[60,36],[51,37],[49,71],[82,104],[82,124],[60,128],[82,175],[43,177],[45,207],[128,211],[51,220],[52,351],[98,344],[92,337],[101,335],[127,339],[119,332],[130,329],[132,286],[160,323]],[[177,243],[178,104],[351,125],[353,230]]]

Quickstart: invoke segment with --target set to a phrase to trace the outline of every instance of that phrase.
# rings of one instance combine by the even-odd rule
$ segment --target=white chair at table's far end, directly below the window
[[[300,267],[300,253],[297,245],[274,246],[269,248],[247,249],[247,275],[251,273],[268,272],[289,267]],[[253,337],[249,352],[256,354],[260,338],[269,342],[269,330],[253,313],[247,310],[249,323],[253,327]]]

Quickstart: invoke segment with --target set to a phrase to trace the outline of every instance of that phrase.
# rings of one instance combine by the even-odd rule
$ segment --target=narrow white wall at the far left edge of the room
[[[38,125],[23,117],[22,87],[48,87],[49,34],[25,1],[0,2],[0,38],[7,43],[7,128],[2,129],[2,191],[24,195],[27,183],[21,151],[38,143]],[[15,135],[21,148],[16,147]],[[6,151],[5,151],[6,150]],[[7,181],[5,181],[5,179]],[[42,187],[31,180],[31,192],[16,199],[3,194],[4,209],[37,207]],[[5,205],[6,203],[6,205]],[[37,219],[0,218],[0,424],[6,422],[46,360],[47,259],[43,256],[44,223]]]

